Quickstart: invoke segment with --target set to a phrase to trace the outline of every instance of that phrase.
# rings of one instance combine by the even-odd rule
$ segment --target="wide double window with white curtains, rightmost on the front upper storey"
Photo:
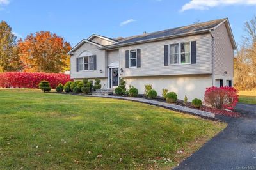
[[[170,65],[191,63],[190,42],[171,44],[169,49]]]

